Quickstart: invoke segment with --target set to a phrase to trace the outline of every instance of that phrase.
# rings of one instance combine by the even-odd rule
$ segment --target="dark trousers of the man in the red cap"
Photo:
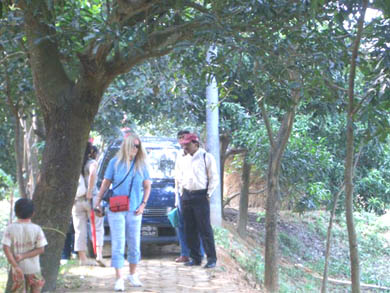
[[[210,223],[210,203],[207,198],[207,193],[205,192],[204,194],[193,196],[186,193],[187,191],[184,190],[181,203],[190,257],[195,262],[202,261],[202,255],[199,248],[200,235],[204,251],[207,255],[207,261],[217,261],[214,233]]]

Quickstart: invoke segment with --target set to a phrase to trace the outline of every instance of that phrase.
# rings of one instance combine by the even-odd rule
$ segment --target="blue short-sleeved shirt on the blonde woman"
[[[127,172],[129,171],[126,163],[119,163],[116,164],[118,158],[114,157],[110,160],[108,163],[107,169],[104,173],[104,178],[108,179],[112,182],[112,187],[115,187],[120,183],[123,178],[125,178]],[[133,161],[130,162],[130,167],[133,164]],[[130,191],[130,183],[132,178],[133,185],[131,188],[131,195],[130,195],[130,211],[135,211],[142,203],[143,197],[144,197],[144,187],[143,182],[145,180],[150,180],[149,170],[147,166],[143,166],[142,170],[137,170],[134,167],[130,171],[130,174],[127,176],[127,178],[123,181],[121,185],[116,187],[114,189],[114,195],[129,195]]]

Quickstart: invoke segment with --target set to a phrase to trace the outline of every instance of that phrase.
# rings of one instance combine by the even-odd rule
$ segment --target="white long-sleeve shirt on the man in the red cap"
[[[217,163],[213,155],[202,148],[192,156],[185,155],[180,162],[178,182],[181,189],[191,191],[206,189],[208,182],[207,195],[210,197],[219,184]]]

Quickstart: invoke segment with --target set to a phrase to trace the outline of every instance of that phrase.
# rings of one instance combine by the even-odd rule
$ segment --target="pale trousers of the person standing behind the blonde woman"
[[[94,206],[96,196],[93,197]],[[87,251],[87,225],[91,215],[91,204],[86,199],[75,200],[72,208],[73,227],[75,231],[74,250]],[[95,215],[96,245],[103,246],[104,217]]]

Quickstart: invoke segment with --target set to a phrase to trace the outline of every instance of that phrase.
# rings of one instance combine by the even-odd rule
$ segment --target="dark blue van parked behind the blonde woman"
[[[174,169],[180,146],[175,139],[164,137],[141,137],[141,141],[148,154],[150,175],[153,181],[142,218],[141,243],[177,243],[176,232],[168,221],[167,213],[175,207]],[[116,155],[121,143],[122,139],[115,140],[104,152],[99,163],[98,187],[103,181],[108,162]],[[91,242],[88,242],[88,246],[92,247]],[[107,218],[104,223],[104,245],[106,244],[111,244]]]

